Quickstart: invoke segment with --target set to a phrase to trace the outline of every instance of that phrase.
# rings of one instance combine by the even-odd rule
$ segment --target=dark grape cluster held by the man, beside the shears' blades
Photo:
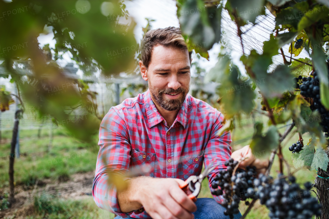
[[[213,195],[223,195],[225,198],[222,206],[226,207],[224,211],[225,215],[229,215],[230,218],[234,218],[233,214],[239,213],[239,203],[247,198],[255,197],[255,190],[253,189],[253,180],[256,179],[257,172],[256,167],[247,166],[246,170],[237,168],[235,174],[233,170],[238,164],[238,161],[234,161],[232,158],[225,162],[227,166],[226,170],[221,170],[214,178],[212,188],[216,189],[212,191]],[[220,188],[218,188],[220,186]],[[246,205],[249,202],[245,202]]]

